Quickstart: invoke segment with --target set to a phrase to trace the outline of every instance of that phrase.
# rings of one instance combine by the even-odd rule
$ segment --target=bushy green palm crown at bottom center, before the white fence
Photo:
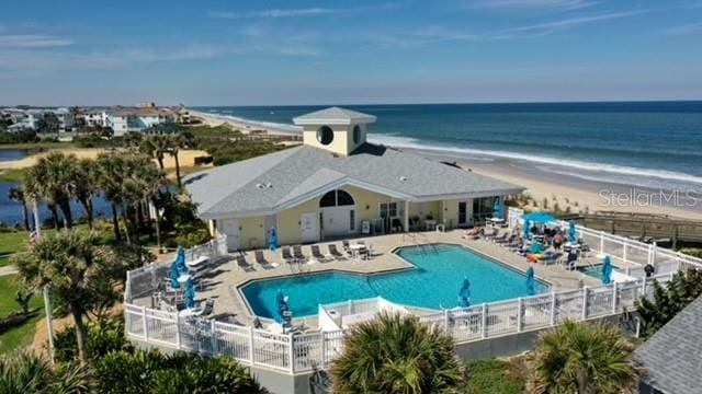
[[[331,368],[335,393],[445,393],[465,385],[453,339],[414,316],[382,313],[351,329]]]

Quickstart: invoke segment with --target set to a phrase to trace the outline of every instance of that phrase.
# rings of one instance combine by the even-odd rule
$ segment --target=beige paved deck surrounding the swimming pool
[[[346,260],[299,264],[292,266],[283,262],[279,248],[275,253],[272,253],[269,250],[263,250],[265,259],[276,265],[275,267],[272,265],[263,267],[256,263],[253,251],[247,251],[244,252],[244,255],[247,263],[252,266],[252,269],[248,271],[237,265],[233,254],[231,259],[222,259],[216,265],[213,265],[211,274],[203,280],[202,290],[196,292],[196,299],[204,300],[207,298],[214,298],[216,300],[216,316],[226,317],[234,315],[235,322],[249,325],[253,320],[253,315],[249,311],[249,308],[238,289],[251,280],[331,270],[356,274],[377,274],[411,268],[411,264],[396,256],[393,251],[403,246],[416,246],[417,244],[428,243],[451,243],[464,245],[474,252],[507,264],[522,273],[530,266],[526,258],[510,252],[503,246],[494,244],[491,241],[486,240],[467,240],[463,234],[463,230],[452,230],[448,232],[429,231],[355,237],[355,241],[364,240],[366,245],[372,245],[374,257],[369,260],[355,260],[349,258]],[[318,244],[321,246],[322,253],[327,252],[327,244],[329,243],[337,244],[338,248],[341,250],[341,241],[320,242]],[[309,256],[312,254],[309,246],[303,246],[303,253]],[[590,257],[590,260],[596,263],[595,257]],[[535,264],[533,266],[536,277],[548,282],[554,291],[577,289],[580,286],[601,286],[601,282],[596,278],[578,271],[563,269],[558,264]],[[618,266],[621,266],[621,264],[618,264]],[[150,305],[150,299],[143,298],[135,300],[135,303],[148,306]],[[416,308],[409,309],[417,314],[428,313],[428,310]],[[316,329],[317,327],[316,317],[302,318],[302,322],[296,320],[296,324],[299,323],[303,323],[304,326],[310,329]]]

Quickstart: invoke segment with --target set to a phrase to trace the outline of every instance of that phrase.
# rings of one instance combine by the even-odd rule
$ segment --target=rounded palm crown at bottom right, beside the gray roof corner
[[[631,361],[633,350],[615,327],[566,321],[542,334],[530,356],[530,392],[633,391],[639,374]]]

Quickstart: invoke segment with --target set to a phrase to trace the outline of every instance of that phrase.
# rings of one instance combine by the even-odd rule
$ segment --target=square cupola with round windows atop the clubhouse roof
[[[303,127],[305,144],[349,155],[365,143],[369,124],[375,121],[375,116],[329,107],[295,117],[293,121]]]

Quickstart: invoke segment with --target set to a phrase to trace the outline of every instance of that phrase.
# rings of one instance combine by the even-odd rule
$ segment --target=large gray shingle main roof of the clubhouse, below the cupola
[[[299,146],[185,177],[204,218],[278,211],[344,184],[409,200],[484,197],[523,189],[370,143],[349,157]]]

